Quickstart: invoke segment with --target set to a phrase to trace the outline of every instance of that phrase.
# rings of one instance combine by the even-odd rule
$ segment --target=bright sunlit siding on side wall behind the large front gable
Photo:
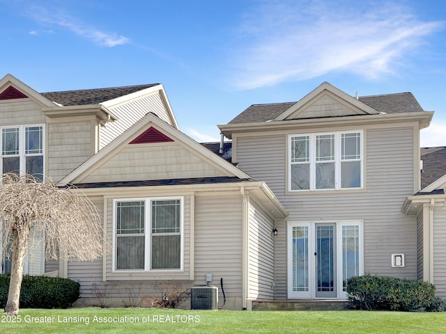
[[[160,92],[153,93],[137,100],[118,104],[117,106],[110,106],[111,111],[117,118],[115,122],[108,122],[100,131],[100,149],[113,141],[126,129],[134,125],[138,120],[144,117],[147,113],[155,113],[160,119],[172,125],[169,113],[162,102]]]

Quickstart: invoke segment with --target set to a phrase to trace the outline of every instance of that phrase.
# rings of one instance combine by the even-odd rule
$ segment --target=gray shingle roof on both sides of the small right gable
[[[423,111],[412,93],[396,93],[359,97],[360,102],[367,104],[380,113],[409,113]],[[297,102],[275,104],[253,104],[240,113],[229,124],[266,122],[284,113]]]

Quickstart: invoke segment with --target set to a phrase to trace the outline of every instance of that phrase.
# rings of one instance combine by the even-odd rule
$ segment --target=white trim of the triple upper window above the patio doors
[[[360,161],[361,186],[356,188],[341,188],[341,135],[342,134],[355,134],[359,133],[360,138],[360,159],[347,160],[347,161]],[[334,188],[332,189],[316,189],[316,136],[323,136],[328,134],[334,134]],[[291,189],[291,140],[293,137],[309,137],[309,189]],[[288,136],[288,191],[291,193],[302,192],[302,191],[344,191],[344,190],[362,190],[364,189],[364,132],[362,130],[348,130],[348,131],[338,131],[338,132],[317,132],[311,134],[289,134]],[[321,162],[321,161],[320,161]],[[323,162],[323,161],[322,161]],[[333,161],[327,161],[333,162]]]

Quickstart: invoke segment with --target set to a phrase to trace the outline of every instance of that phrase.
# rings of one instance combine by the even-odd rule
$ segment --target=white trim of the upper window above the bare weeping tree
[[[42,153],[25,154],[25,128],[26,127],[42,127]],[[7,127],[0,127],[0,157],[3,157],[3,129],[19,129],[19,159],[20,159],[20,176],[26,173],[26,161],[25,157],[38,157],[43,156],[43,180],[45,180],[45,157],[46,157],[46,136],[45,136],[45,124],[26,124],[26,125],[10,125]],[[4,157],[8,157],[7,155]],[[17,157],[11,155],[10,157]],[[3,171],[3,159],[0,159],[0,173]]]

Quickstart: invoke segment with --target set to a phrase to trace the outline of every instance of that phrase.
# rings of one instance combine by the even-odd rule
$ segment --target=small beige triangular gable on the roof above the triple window
[[[379,114],[338,88],[324,82],[311,93],[281,113],[275,120],[300,120]]]

